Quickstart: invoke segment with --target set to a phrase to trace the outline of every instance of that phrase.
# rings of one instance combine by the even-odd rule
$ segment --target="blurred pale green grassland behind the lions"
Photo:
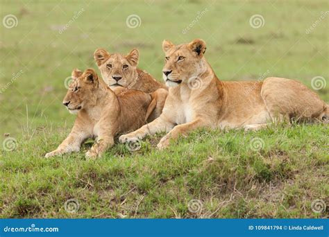
[[[279,76],[311,87],[312,78],[329,76],[325,9],[326,0],[2,0],[1,137],[31,135],[44,126],[70,128],[74,116],[62,106],[65,78],[75,67],[96,69],[93,52],[99,47],[124,54],[139,49],[139,67],[160,80],[162,40],[202,38],[221,80]],[[8,15],[16,17],[12,25]],[[262,17],[259,28],[252,27],[255,15]],[[328,91],[317,91],[327,103]]]

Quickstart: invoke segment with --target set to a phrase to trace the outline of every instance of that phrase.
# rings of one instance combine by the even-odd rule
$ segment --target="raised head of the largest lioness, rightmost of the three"
[[[162,69],[162,78],[168,87],[176,87],[180,83],[198,77],[205,71],[203,54],[205,42],[193,40],[189,44],[174,45],[168,40],[162,42],[165,52],[165,67]]]

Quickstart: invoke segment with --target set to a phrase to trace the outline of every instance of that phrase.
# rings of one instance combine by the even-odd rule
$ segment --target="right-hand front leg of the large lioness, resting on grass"
[[[167,148],[169,146],[171,140],[176,140],[180,135],[187,136],[187,134],[189,134],[189,132],[196,130],[196,128],[203,128],[206,126],[207,126],[207,123],[205,123],[201,119],[196,119],[189,123],[183,123],[183,124],[177,125],[173,130],[171,130],[168,134],[166,134],[165,137],[162,137],[162,139],[158,143],[157,147],[160,150]]]

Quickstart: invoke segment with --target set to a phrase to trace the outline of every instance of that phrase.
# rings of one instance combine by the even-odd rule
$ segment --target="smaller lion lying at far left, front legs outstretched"
[[[96,143],[85,155],[92,159],[99,157],[113,146],[117,134],[136,130],[146,123],[161,93],[167,96],[165,89],[153,94],[132,89],[115,93],[99,80],[94,69],[84,72],[74,69],[71,78],[63,105],[71,114],[77,114],[76,121],[69,136],[45,157],[78,152],[83,141],[92,137],[97,138]]]

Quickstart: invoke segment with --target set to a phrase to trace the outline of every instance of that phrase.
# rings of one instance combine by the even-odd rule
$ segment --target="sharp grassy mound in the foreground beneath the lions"
[[[40,159],[65,137],[64,130],[40,131],[32,144],[23,139],[15,152],[3,153],[1,216],[324,217],[310,204],[328,197],[328,132],[323,125],[200,130],[166,151],[155,150],[158,136],[136,152],[117,145],[101,159],[87,161],[88,146],[74,155]],[[263,142],[259,150],[254,138]],[[80,204],[78,213],[65,211],[71,198]],[[203,209],[188,211],[192,199],[201,200]]]

